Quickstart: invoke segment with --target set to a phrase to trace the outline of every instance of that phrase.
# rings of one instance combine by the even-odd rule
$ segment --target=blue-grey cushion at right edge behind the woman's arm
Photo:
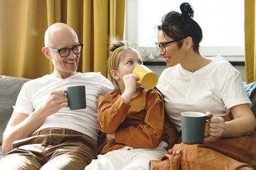
[[[256,82],[244,85],[244,88],[246,90],[248,97],[252,101],[251,109],[253,111],[254,116],[256,117]]]

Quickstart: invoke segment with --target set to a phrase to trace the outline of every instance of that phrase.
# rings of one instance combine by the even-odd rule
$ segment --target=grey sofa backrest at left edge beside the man
[[[2,145],[4,129],[12,115],[12,106],[15,105],[22,85],[29,80],[0,75],[0,145]]]

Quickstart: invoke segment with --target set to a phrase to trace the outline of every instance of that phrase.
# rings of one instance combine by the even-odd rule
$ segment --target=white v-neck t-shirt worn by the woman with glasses
[[[159,77],[157,89],[164,95],[164,109],[178,131],[183,111],[211,111],[221,117],[238,104],[252,106],[239,71],[221,56],[210,59],[207,66],[194,73],[177,64],[164,69]]]

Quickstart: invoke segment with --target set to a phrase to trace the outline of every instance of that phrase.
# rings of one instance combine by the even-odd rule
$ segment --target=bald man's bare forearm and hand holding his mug
[[[45,118],[68,106],[67,94],[63,90],[51,92],[49,99],[30,115],[25,113],[13,114],[3,134],[3,152],[12,150],[13,141],[28,138],[42,125]]]

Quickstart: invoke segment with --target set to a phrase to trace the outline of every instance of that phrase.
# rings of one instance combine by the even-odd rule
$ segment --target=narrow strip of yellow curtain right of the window
[[[256,81],[255,0],[244,0],[244,48],[246,83]]]

